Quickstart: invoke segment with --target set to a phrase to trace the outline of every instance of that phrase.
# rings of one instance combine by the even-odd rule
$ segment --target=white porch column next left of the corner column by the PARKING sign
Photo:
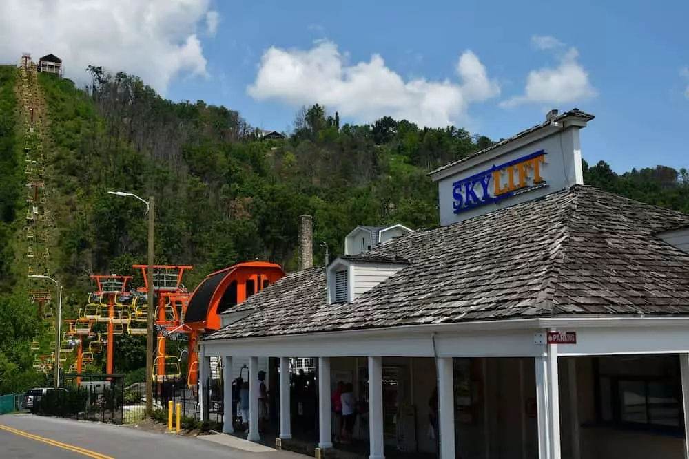
[[[455,459],[455,397],[452,357],[438,357],[438,430],[440,459]]]

